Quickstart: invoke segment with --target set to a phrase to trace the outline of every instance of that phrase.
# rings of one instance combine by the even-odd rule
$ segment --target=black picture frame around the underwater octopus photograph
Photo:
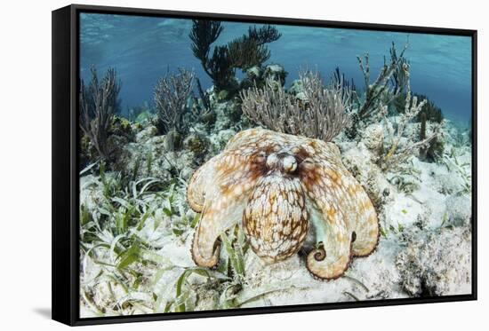
[[[78,93],[79,14],[96,12],[186,19],[213,19],[250,23],[277,23],[294,26],[355,28],[377,31],[464,35],[472,41],[472,293],[409,299],[373,300],[349,303],[320,303],[290,306],[156,313],[138,316],[79,318],[78,249]],[[318,311],[413,303],[441,303],[477,300],[477,30],[409,27],[328,20],[285,19],[207,12],[176,12],[72,4],[52,12],[52,319],[70,326],[194,319],[229,315]]]

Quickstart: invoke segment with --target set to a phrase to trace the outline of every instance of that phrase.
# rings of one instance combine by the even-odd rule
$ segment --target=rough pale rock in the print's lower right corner
[[[401,284],[410,296],[453,296],[471,292],[469,227],[416,232],[397,256]]]

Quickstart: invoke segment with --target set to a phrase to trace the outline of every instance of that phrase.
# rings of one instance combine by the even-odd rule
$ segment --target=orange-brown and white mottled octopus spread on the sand
[[[268,263],[303,252],[312,238],[305,264],[321,280],[341,277],[379,241],[373,203],[340,149],[314,138],[243,130],[196,170],[187,199],[201,213],[190,251],[202,267],[219,263],[220,234],[235,225]]]

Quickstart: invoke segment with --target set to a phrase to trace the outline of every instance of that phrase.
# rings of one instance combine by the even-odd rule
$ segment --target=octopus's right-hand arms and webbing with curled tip
[[[366,256],[376,247],[378,218],[363,187],[341,163],[338,147],[324,142],[314,147],[315,153],[301,164],[320,243],[307,265],[317,277],[334,279],[346,271],[351,256]]]

